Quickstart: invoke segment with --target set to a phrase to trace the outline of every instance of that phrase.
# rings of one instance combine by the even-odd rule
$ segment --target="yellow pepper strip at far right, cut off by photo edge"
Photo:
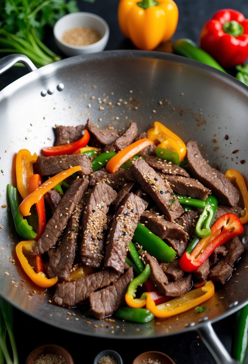
[[[225,173],[225,178],[228,178],[232,184],[240,191],[243,198],[244,209],[240,212],[240,221],[242,224],[248,222],[248,190],[245,184],[244,177],[236,169],[228,169]]]

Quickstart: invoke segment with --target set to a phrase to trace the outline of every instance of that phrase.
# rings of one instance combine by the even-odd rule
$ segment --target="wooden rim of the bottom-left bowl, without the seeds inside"
[[[63,347],[55,344],[42,345],[34,349],[26,359],[25,364],[32,364],[41,355],[55,354],[62,356],[67,364],[74,364],[71,354]]]

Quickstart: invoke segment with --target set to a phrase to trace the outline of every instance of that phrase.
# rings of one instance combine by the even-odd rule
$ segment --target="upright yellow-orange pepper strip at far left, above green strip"
[[[33,175],[33,163],[37,161],[37,154],[33,155],[27,149],[20,149],[16,155],[16,182],[22,198],[29,194],[28,184]]]

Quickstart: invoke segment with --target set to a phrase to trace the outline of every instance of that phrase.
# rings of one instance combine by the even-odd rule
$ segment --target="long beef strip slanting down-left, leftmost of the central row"
[[[75,179],[61,198],[57,209],[54,211],[45,227],[44,233],[37,241],[37,245],[32,253],[33,256],[47,252],[47,250],[56,244],[60,234],[67,226],[68,220],[70,219],[76,204],[79,203],[84,192],[87,190],[88,183],[88,180],[84,178]]]

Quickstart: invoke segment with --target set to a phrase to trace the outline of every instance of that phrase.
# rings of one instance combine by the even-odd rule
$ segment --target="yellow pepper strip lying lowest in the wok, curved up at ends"
[[[181,297],[173,298],[170,301],[156,306],[149,292],[146,292],[146,308],[150,310],[155,317],[171,317],[190,310],[193,307],[199,306],[201,303],[211,298],[214,293],[215,286],[212,281],[208,281],[203,287],[192,289]]]

